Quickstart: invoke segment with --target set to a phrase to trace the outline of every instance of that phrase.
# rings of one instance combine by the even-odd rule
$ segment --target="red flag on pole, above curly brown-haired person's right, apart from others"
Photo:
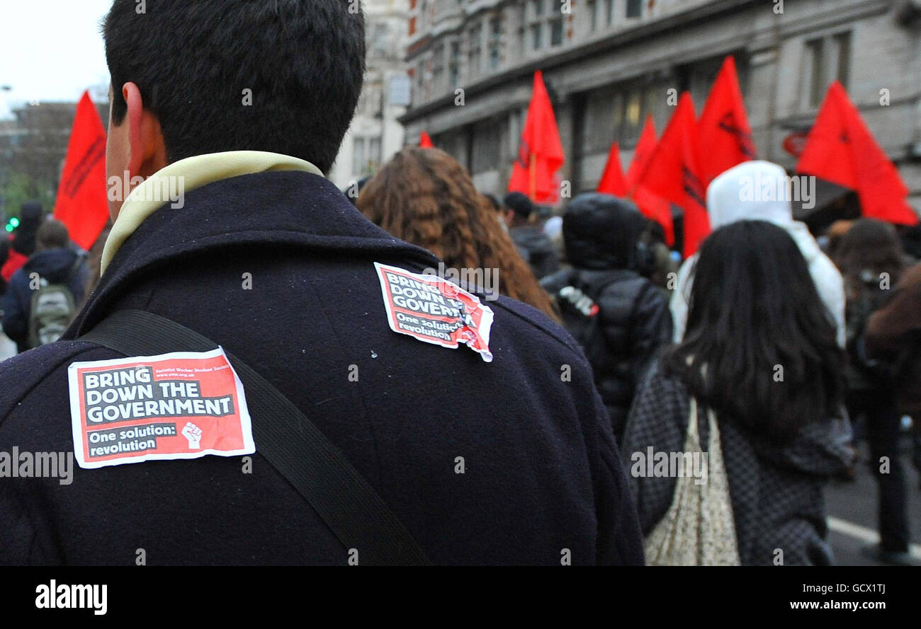
[[[560,193],[556,171],[563,166],[564,160],[554,108],[543,85],[543,74],[538,70],[534,73],[528,116],[521,132],[519,156],[512,166],[508,191],[523,192],[535,203],[555,203]]]

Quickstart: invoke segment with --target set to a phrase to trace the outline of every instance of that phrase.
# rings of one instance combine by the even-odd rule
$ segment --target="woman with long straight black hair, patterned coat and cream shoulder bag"
[[[737,563],[828,564],[822,481],[850,456],[832,315],[799,247],[772,223],[717,230],[693,272],[684,340],[647,372],[624,436],[643,532],[686,516],[675,470],[648,474],[646,460],[682,453],[694,433],[709,444],[700,485],[728,480],[713,509],[729,514]]]

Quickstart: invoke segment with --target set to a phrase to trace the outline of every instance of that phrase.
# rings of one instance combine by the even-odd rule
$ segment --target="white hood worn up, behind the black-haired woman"
[[[706,189],[706,209],[714,230],[737,221],[793,222],[787,171],[771,162],[743,162],[729,168]]]

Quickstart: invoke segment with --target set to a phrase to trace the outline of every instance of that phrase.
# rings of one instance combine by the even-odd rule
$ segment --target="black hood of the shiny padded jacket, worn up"
[[[635,269],[636,243],[647,221],[628,200],[580,194],[563,217],[566,259],[582,269]]]

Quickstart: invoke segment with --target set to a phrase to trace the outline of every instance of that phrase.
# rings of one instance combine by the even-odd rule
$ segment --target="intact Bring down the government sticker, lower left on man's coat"
[[[75,362],[67,376],[80,467],[256,452],[223,349]]]

